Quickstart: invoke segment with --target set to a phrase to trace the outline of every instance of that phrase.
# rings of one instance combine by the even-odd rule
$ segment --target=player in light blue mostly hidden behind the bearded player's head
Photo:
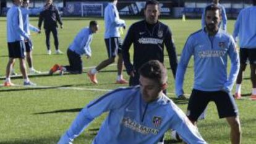
[[[225,7],[222,6],[220,3],[219,3],[220,0],[213,0],[213,2],[211,4],[216,4],[218,7],[221,8],[221,19],[222,19],[222,22],[220,22],[219,24],[219,27],[221,27],[221,23],[222,23],[222,29],[224,31],[227,30],[227,25],[228,25],[228,18],[227,18],[227,15],[226,15],[226,10],[225,10]],[[203,10],[203,14],[202,14],[202,28],[205,27],[205,9]]]

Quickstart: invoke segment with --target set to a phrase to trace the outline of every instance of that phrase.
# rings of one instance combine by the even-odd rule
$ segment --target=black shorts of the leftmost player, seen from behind
[[[8,44],[9,57],[24,58],[25,57],[25,43],[24,41],[15,41]]]

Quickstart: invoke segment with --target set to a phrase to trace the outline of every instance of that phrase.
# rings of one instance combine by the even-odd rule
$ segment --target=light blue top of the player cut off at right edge
[[[256,6],[243,9],[234,25],[233,37],[239,36],[240,48],[256,49]]]

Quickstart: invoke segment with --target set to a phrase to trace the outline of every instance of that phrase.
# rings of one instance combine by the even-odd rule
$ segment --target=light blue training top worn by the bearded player
[[[182,89],[184,75],[191,56],[194,56],[194,89],[227,92],[232,90],[240,65],[239,54],[232,36],[220,28],[211,38],[205,30],[198,30],[189,36],[177,67],[177,96],[184,94]],[[231,59],[229,77],[228,56]]]

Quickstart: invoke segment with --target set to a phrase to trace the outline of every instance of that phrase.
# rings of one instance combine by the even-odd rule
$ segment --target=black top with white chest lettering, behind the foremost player
[[[169,62],[174,78],[177,69],[177,54],[173,43],[171,30],[167,25],[157,22],[151,32],[145,20],[132,24],[122,45],[122,56],[127,73],[139,68],[150,60],[164,62],[164,45],[169,56]],[[129,49],[134,44],[134,64],[130,62]]]

